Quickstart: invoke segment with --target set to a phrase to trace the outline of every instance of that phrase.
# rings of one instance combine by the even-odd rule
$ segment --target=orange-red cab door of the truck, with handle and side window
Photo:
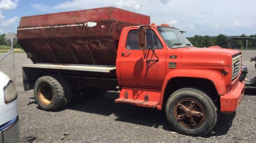
[[[137,43],[137,30],[129,30],[125,48],[121,50],[121,86],[161,88],[165,79],[166,48],[153,29],[147,29],[147,49]],[[152,50],[151,50],[152,49]]]

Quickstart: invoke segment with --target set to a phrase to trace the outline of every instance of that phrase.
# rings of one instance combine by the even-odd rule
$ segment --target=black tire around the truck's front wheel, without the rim
[[[177,102],[181,99],[195,99],[199,102],[204,111],[205,111],[205,121],[201,126],[195,129],[189,129],[183,127],[178,121],[175,119],[174,109]],[[198,89],[193,88],[182,88],[175,93],[173,93],[169,99],[168,104],[166,106],[166,115],[168,116],[168,121],[181,134],[190,135],[190,136],[202,136],[213,129],[217,121],[217,108],[214,104],[213,100]]]

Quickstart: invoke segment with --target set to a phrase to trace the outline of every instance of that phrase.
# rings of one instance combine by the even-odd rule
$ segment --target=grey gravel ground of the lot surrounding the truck
[[[248,77],[256,74],[256,50],[243,50]],[[4,53],[0,53],[2,57]],[[219,116],[216,127],[204,137],[177,134],[164,110],[115,103],[118,93],[102,98],[74,96],[66,109],[46,112],[38,108],[33,90],[25,92],[21,65],[32,63],[26,54],[14,54],[15,86],[19,94],[20,143],[256,143],[256,88],[246,87],[236,112]],[[13,79],[12,56],[0,62]]]

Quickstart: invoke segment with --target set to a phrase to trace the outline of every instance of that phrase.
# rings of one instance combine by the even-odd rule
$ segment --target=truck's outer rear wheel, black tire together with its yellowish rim
[[[34,97],[42,110],[57,110],[65,102],[63,86],[57,79],[55,76],[42,76],[35,82]]]

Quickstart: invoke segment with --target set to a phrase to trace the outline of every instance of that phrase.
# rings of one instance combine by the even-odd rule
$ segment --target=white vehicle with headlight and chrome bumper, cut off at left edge
[[[13,81],[0,71],[0,143],[20,141],[18,94]]]

